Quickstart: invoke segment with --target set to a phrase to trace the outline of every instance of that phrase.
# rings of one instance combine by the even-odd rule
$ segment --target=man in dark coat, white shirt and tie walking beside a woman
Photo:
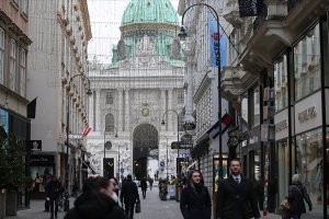
[[[219,182],[218,214],[220,219],[260,218],[252,183],[241,175],[241,163],[234,159],[230,161],[230,175]]]

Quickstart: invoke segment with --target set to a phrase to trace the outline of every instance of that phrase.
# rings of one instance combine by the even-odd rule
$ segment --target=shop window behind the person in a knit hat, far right
[[[314,212],[322,212],[324,206],[324,142],[322,129],[318,128],[296,136],[296,173],[307,188]]]

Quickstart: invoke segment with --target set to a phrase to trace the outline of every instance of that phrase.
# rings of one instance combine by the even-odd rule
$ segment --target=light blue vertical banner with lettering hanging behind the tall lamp
[[[209,27],[209,46],[211,46],[211,65],[212,67],[218,67],[220,61],[220,68],[227,66],[226,56],[227,56],[227,37],[223,34],[223,31],[219,30],[217,21],[212,13],[207,14],[208,18],[208,27]],[[218,44],[219,39],[219,44]]]

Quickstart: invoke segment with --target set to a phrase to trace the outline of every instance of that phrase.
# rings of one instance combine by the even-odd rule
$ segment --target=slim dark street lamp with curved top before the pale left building
[[[71,79],[70,79],[70,81],[69,81],[69,83],[68,83],[68,88],[70,89],[71,88],[71,82],[73,81],[73,79],[75,78],[77,78],[77,77],[83,77],[84,79],[87,79],[87,81],[88,81],[88,89],[87,89],[87,95],[91,95],[92,94],[92,91],[91,91],[91,89],[90,89],[90,80],[89,80],[89,78],[86,76],[86,74],[83,74],[83,73],[78,73],[78,74],[76,74],[76,76],[73,76]],[[65,200],[65,207],[64,207],[64,209],[65,209],[65,211],[68,211],[69,210],[69,199],[68,199],[68,191],[69,191],[69,170],[70,170],[70,168],[69,168],[69,126],[70,126],[70,119],[69,119],[69,116],[70,116],[70,97],[68,96],[67,97],[67,112],[66,112],[66,177],[65,177],[65,186],[66,186],[66,196],[67,196],[67,198],[66,198],[66,200]]]

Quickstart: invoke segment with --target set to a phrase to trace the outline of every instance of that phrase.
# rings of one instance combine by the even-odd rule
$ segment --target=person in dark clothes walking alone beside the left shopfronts
[[[47,198],[49,198],[50,219],[54,219],[54,217],[57,219],[58,198],[65,189],[58,178],[52,175],[52,180],[47,183],[45,191]]]

